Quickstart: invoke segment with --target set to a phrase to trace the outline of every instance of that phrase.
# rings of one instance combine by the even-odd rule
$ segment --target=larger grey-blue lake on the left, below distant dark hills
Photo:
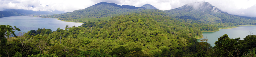
[[[15,31],[17,35],[19,32],[28,32],[30,30],[37,30],[38,28],[51,29],[56,31],[57,28],[65,29],[66,25],[81,26],[83,23],[65,22],[53,18],[38,18],[29,16],[11,16],[0,18],[0,25],[16,26],[20,31]]]

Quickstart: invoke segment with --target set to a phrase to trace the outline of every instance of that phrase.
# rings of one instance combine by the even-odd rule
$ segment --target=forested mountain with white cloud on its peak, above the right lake
[[[255,20],[222,12],[207,2],[188,3],[176,9],[165,10],[165,13],[175,18],[196,20],[216,27],[256,24]]]

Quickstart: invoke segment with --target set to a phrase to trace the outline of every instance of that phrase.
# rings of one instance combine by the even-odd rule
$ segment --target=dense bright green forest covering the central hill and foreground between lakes
[[[217,27],[196,20],[165,16],[160,10],[144,10],[110,20],[86,22],[79,27],[31,30],[1,25],[2,57],[252,57],[256,36],[240,40],[223,35],[214,47],[207,39],[197,42],[201,31]]]

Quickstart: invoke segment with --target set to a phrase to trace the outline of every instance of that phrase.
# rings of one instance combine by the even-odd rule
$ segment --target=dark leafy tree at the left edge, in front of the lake
[[[14,26],[14,28],[10,25],[0,25],[0,54],[1,56],[12,56],[13,54],[15,54],[15,51],[19,50],[19,46],[18,46],[18,42],[19,41],[15,41],[14,42],[10,42],[13,43],[13,45],[11,46],[10,44],[8,44],[7,39],[9,39],[9,37],[16,37],[15,35],[15,30],[20,31],[19,28],[17,28],[16,26]],[[6,38],[7,37],[7,38]],[[12,51],[11,51],[11,50]],[[8,53],[9,52],[9,53]]]

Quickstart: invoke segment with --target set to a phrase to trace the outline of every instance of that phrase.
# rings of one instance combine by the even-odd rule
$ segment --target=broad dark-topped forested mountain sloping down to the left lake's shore
[[[85,9],[75,10],[64,14],[43,16],[45,18],[59,18],[59,20],[88,22],[98,20],[109,20],[113,16],[125,15],[131,12],[145,10],[144,7],[130,5],[117,5],[115,3],[100,2]]]

